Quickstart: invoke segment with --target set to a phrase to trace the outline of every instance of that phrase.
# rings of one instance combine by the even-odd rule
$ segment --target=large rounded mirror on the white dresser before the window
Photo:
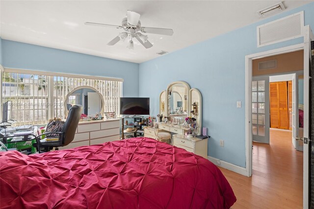
[[[82,105],[83,114],[94,117],[96,113],[104,114],[104,98],[91,86],[79,86],[71,91],[64,101],[64,114],[67,117],[73,105]]]

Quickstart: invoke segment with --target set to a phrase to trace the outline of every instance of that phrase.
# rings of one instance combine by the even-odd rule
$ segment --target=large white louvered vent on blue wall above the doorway
[[[262,47],[303,36],[304,12],[257,27],[257,46]]]

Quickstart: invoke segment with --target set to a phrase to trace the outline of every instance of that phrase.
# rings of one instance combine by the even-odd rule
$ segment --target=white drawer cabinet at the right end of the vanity
[[[174,134],[173,146],[183,148],[188,152],[194,153],[207,159],[208,138],[187,138],[183,134]]]

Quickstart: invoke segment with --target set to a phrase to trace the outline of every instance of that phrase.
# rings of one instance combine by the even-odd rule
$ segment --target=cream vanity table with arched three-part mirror
[[[159,114],[167,117],[168,123],[158,122],[159,129],[173,133],[173,145],[207,158],[208,138],[188,138],[185,132],[189,131],[183,125],[186,117],[191,117],[196,122],[198,129],[196,135],[201,134],[202,129],[202,95],[196,88],[190,88],[184,81],[175,81],[168,85],[167,89],[159,95]],[[175,125],[176,124],[176,125]],[[144,136],[155,138],[154,129],[145,129]]]

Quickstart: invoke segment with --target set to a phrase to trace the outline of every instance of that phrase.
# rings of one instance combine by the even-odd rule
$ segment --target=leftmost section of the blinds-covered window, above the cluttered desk
[[[2,103],[12,101],[12,119],[20,124],[47,121],[47,76],[7,73],[2,75]]]

